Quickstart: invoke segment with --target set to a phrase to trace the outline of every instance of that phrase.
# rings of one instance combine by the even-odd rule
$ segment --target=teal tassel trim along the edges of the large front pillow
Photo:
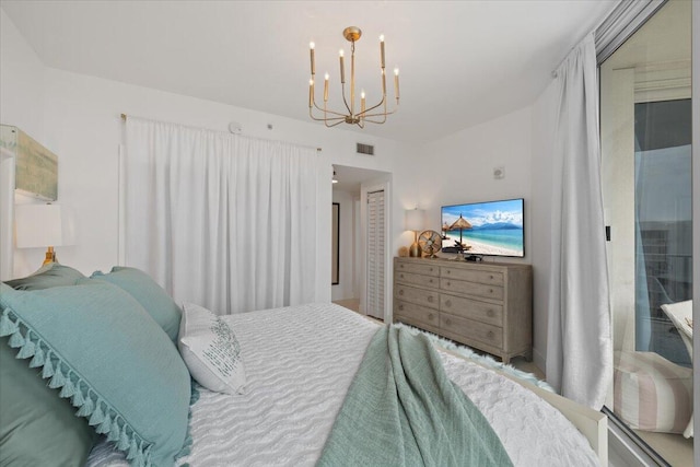
[[[26,329],[24,336],[22,328]],[[127,455],[132,467],[152,466],[153,444],[142,440],[116,410],[86,382],[83,382],[60,355],[9,307],[5,307],[0,316],[0,337],[7,336],[10,337],[8,342],[10,347],[19,349],[16,358],[23,360],[32,358],[30,367],[42,367],[42,377],[49,380],[49,387],[61,389],[59,393],[61,398],[71,399],[72,397],[71,404],[78,408],[75,416],[86,418],[88,423],[94,427],[97,433],[107,434],[107,440]],[[192,398],[195,390],[192,386]],[[188,417],[191,419],[191,407]],[[187,439],[178,457],[189,454],[192,442],[189,429],[188,423]]]

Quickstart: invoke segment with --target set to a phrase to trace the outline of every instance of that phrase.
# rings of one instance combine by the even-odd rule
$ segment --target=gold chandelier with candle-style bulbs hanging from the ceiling
[[[326,73],[324,82],[324,104],[323,107],[316,104],[314,97],[314,79],[316,75],[316,63],[314,61],[314,43],[308,45],[311,52],[311,80],[308,80],[308,116],[317,121],[323,121],[326,127],[335,127],[336,125],[346,122],[350,125],[357,125],[360,128],[364,128],[365,122],[370,124],[384,124],[386,116],[392,115],[398,108],[398,68],[394,69],[394,94],[396,95],[396,108],[393,110],[387,109],[386,98],[386,74],[384,71],[384,35],[380,36],[380,50],[382,56],[382,100],[371,107],[366,106],[366,96],[364,90],[360,93],[360,107],[355,107],[355,83],[354,83],[354,43],[360,40],[362,31],[359,27],[350,26],[346,27],[342,32],[345,38],[351,43],[351,56],[350,56],[350,98],[346,94],[346,69],[345,69],[345,54],[340,50],[340,85],[342,90],[342,102],[345,103],[345,112],[335,112],[328,109],[328,79]],[[320,115],[314,115],[314,109],[323,113]]]

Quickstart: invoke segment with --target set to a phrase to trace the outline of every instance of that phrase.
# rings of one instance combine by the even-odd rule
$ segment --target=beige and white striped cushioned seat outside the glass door
[[[692,370],[654,352],[615,352],[614,412],[631,428],[682,433],[692,415]]]

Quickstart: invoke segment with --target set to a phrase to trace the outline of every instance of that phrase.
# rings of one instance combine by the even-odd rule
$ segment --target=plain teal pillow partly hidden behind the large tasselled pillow
[[[149,312],[171,340],[177,342],[183,311],[149,275],[136,268],[115,266],[112,272],[105,275],[96,271],[91,279],[112,282],[128,292]]]

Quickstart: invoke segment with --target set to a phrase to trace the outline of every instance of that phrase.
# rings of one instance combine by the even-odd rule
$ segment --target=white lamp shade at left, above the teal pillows
[[[14,225],[18,248],[63,244],[61,207],[58,205],[16,205]]]

